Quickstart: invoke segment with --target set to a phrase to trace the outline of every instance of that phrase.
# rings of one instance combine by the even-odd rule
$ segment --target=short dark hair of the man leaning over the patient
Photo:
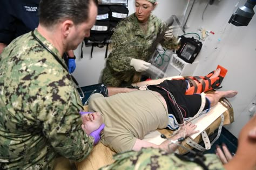
[[[71,19],[75,24],[85,22],[89,17],[90,3],[97,0],[41,0],[39,3],[39,23],[55,25],[62,19]]]

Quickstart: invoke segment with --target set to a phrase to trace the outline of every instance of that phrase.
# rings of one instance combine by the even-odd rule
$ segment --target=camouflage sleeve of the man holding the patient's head
[[[58,82],[49,84],[49,98],[38,106],[38,119],[42,121],[44,136],[55,151],[70,160],[81,161],[92,150],[94,139],[82,130],[79,110],[83,106],[76,88]],[[58,88],[54,87],[56,83]]]

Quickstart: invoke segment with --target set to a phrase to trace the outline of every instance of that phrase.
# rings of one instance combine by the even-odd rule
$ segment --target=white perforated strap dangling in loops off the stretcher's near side
[[[193,141],[191,138],[187,138],[187,139],[186,139],[186,143],[187,143],[188,145],[190,145],[190,146],[196,148],[196,149],[199,150],[199,151],[210,150],[212,144],[214,144],[215,141],[216,141],[217,139],[219,139],[220,134],[221,134],[221,129],[222,129],[223,123],[224,123],[224,115],[222,114],[220,117],[221,117],[221,122],[220,122],[220,125],[219,125],[219,128],[218,128],[218,134],[217,134],[217,136],[215,137],[215,139],[213,139],[212,143],[211,143],[210,139],[208,138],[208,135],[207,135],[207,133],[206,133],[205,131],[203,131],[203,132],[201,133],[202,138],[203,138],[203,141],[204,141],[204,144],[205,144],[205,147],[199,145],[198,143],[196,143],[195,141]]]

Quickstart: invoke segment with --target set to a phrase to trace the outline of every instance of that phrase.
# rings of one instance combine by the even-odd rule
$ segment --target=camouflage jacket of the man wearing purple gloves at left
[[[34,31],[62,60],[49,41]],[[62,60],[64,63],[64,60]],[[93,138],[82,130],[83,109],[66,68],[31,36],[0,55],[0,169],[52,169],[57,155],[80,161]]]

